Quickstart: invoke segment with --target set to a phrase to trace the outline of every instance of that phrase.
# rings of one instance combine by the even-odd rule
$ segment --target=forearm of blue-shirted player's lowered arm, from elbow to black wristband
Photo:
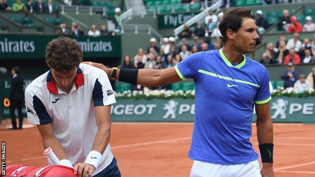
[[[257,127],[257,140],[259,144],[273,143],[274,132],[273,132],[273,124],[272,124],[272,120],[270,116],[266,119],[259,119],[259,117],[257,117],[256,127]]]

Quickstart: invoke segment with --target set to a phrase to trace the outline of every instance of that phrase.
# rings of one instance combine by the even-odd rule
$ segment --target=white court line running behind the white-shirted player
[[[143,143],[135,143],[135,144],[126,144],[121,146],[112,146],[111,149],[121,149],[121,148],[128,148],[128,147],[136,147],[136,146],[145,146],[145,145],[152,145],[152,144],[161,144],[161,143],[170,143],[170,142],[177,142],[177,141],[184,141],[184,140],[191,140],[191,137],[184,137],[184,138],[175,138],[170,140],[160,140],[160,141],[149,141]],[[17,162],[17,161],[29,161],[29,160],[38,160],[44,159],[46,156],[37,156],[37,157],[29,157],[29,158],[22,158],[16,160],[7,160],[7,163]]]

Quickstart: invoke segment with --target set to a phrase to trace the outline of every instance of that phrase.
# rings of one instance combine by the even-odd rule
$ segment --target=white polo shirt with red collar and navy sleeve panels
[[[97,126],[94,106],[116,103],[107,74],[80,64],[69,94],[52,82],[48,71],[31,82],[25,90],[27,119],[36,125],[53,124],[55,135],[74,165],[83,163],[92,150]],[[113,160],[110,144],[93,175]]]

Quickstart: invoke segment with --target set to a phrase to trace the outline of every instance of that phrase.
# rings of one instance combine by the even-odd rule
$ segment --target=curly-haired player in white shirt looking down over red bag
[[[80,177],[120,177],[109,144],[116,100],[108,76],[80,64],[80,44],[68,37],[50,41],[45,57],[50,70],[25,90],[27,119],[37,125],[44,149],[51,147]]]

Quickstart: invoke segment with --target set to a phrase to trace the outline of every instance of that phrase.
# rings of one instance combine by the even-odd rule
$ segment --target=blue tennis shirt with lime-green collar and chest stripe
[[[249,141],[254,104],[271,100],[266,68],[247,56],[231,64],[221,50],[190,55],[175,66],[181,79],[194,79],[195,118],[189,158],[242,164],[258,155]]]

